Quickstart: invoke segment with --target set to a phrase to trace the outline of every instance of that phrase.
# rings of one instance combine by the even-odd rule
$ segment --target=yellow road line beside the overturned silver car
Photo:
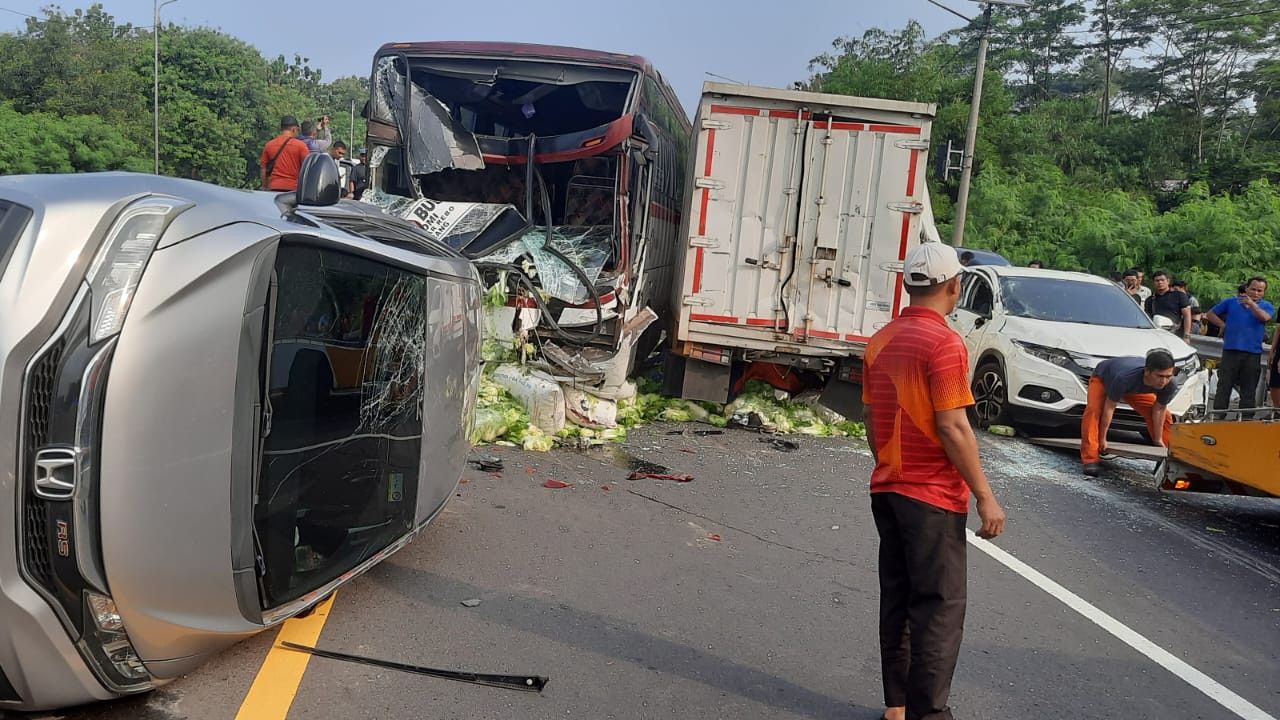
[[[337,594],[329,596],[306,618],[291,618],[284,621],[279,634],[275,635],[275,642],[271,643],[271,651],[262,660],[262,667],[259,669],[253,685],[241,703],[239,712],[236,714],[236,720],[284,720],[289,714],[289,706],[293,705],[293,696],[302,684],[302,675],[307,671],[311,653],[289,650],[280,643],[288,641],[315,647]]]

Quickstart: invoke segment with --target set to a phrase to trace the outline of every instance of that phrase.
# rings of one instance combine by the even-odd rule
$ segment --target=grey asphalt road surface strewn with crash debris
[[[504,471],[468,470],[421,538],[338,593],[319,641],[547,675],[540,696],[312,659],[288,717],[879,717],[865,445],[667,434],[689,428],[499,448]],[[970,547],[957,717],[1239,717],[1203,692],[1215,682],[1280,717],[1280,501],[1165,495],[1149,464],[1088,479],[1069,455],[982,442],[1010,518],[996,544],[1208,685]],[[627,480],[637,460],[694,480]],[[236,717],[274,635],[150,696],[49,717]]]

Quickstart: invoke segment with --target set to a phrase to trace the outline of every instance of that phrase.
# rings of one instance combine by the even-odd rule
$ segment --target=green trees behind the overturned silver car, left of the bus
[[[0,173],[150,170],[154,42],[150,28],[118,24],[101,4],[49,6],[0,35]],[[367,81],[323,82],[306,58],[268,60],[216,29],[163,27],[159,79],[164,174],[255,187],[283,115],[328,113],[335,138],[364,143],[351,109],[364,105]]]

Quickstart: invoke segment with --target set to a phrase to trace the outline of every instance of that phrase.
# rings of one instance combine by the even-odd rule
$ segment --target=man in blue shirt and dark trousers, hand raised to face
[[[1244,291],[1219,302],[1208,311],[1208,322],[1222,331],[1222,360],[1217,365],[1217,391],[1213,410],[1231,405],[1231,389],[1240,393],[1240,407],[1257,407],[1258,379],[1262,374],[1262,341],[1266,324],[1276,309],[1262,299],[1267,279],[1252,277]]]

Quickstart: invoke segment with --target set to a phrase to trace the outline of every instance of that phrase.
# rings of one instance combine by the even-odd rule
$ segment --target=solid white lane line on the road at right
[[[1138,634],[1138,632],[1133,630],[1120,620],[1107,615],[1083,597],[1048,579],[1039,570],[1005,552],[1000,547],[978,538],[973,530],[966,529],[965,533],[969,536],[969,544],[980,550],[996,562],[1000,562],[1005,568],[1018,573],[1033,585],[1053,596],[1061,601],[1062,605],[1079,612],[1094,625],[1115,635],[1120,642],[1146,655],[1153,662],[1165,670],[1169,670],[1190,687],[1204,693],[1222,707],[1234,712],[1236,716],[1243,720],[1276,720],[1275,716],[1268,715],[1261,707],[1235,694],[1213,678],[1210,678],[1204,673],[1192,667],[1174,656],[1174,653],[1148,641],[1146,637]]]

